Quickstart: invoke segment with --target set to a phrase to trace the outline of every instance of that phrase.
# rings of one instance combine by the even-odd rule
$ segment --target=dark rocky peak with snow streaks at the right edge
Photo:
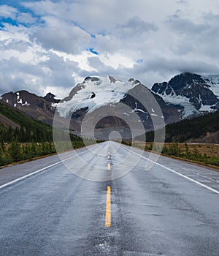
[[[155,83],[155,94],[166,103],[183,107],[181,118],[219,109],[219,76],[206,76],[182,73],[169,82]]]

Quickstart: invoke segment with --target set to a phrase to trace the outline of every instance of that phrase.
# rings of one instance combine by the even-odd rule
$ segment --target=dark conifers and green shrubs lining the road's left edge
[[[84,146],[82,138],[69,135],[70,141],[66,141],[66,132],[58,131],[58,151],[66,151],[72,148]],[[0,128],[0,166],[26,159],[33,159],[56,152],[57,146],[53,143],[52,127],[41,127],[26,124],[20,128]]]

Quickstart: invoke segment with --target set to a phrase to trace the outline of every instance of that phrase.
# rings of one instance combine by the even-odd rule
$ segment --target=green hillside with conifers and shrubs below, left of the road
[[[53,127],[4,104],[0,104],[0,114],[12,124],[0,124],[0,166],[56,152]],[[76,135],[70,135],[70,143],[65,138],[66,132],[59,131],[58,151],[85,146]]]

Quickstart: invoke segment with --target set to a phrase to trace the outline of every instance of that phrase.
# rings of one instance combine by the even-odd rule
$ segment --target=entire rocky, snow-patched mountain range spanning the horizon
[[[185,72],[169,82],[155,83],[151,90],[139,80],[108,75],[85,78],[62,100],[55,99],[51,93],[39,97],[28,91],[9,92],[1,99],[51,125],[57,110],[60,127],[66,124],[67,129],[67,118],[70,118],[70,129],[77,135],[81,135],[86,118],[88,128],[96,122],[95,137],[106,139],[115,130],[123,138],[133,138],[131,129],[134,135],[143,133],[139,124],[149,131],[158,128],[164,121],[170,124],[216,111],[219,109],[218,97],[219,76],[204,77]],[[87,135],[88,138],[93,136],[89,131]]]

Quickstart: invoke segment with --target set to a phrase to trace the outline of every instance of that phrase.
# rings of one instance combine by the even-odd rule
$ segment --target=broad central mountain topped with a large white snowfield
[[[158,113],[158,106],[153,107],[153,97],[163,113]],[[131,132],[142,133],[139,123],[142,123],[143,129],[151,130],[153,121],[161,125],[164,119],[166,123],[171,123],[180,118],[177,107],[166,104],[139,80],[110,75],[85,78],[72,89],[68,97],[61,100],[57,110],[60,116],[71,117],[80,125],[85,123],[85,118],[88,119],[91,133],[87,130],[83,135],[92,136],[95,128],[96,138],[99,139],[108,138],[115,127],[123,138],[130,138]]]

